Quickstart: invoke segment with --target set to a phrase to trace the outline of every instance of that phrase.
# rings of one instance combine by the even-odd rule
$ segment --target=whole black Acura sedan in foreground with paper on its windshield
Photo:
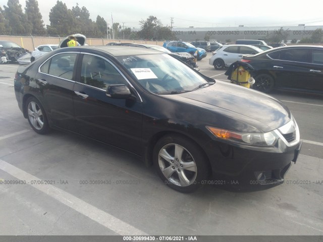
[[[19,67],[14,82],[36,133],[70,131],[132,152],[180,192],[221,174],[235,184],[281,184],[301,146],[280,101],[156,50],[61,48]]]

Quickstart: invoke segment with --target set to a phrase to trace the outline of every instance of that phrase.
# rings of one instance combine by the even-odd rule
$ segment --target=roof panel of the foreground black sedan
[[[163,54],[158,50],[148,49],[148,48],[138,48],[134,46],[127,46],[127,45],[87,45],[87,46],[77,46],[77,47],[64,47],[61,48],[62,51],[84,51],[84,49],[92,49],[92,50],[99,50],[106,53],[109,53],[113,56],[123,56],[123,55],[141,55],[141,54]]]

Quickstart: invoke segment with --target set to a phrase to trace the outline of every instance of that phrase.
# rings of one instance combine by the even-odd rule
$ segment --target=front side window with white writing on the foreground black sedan
[[[105,59],[90,54],[83,55],[80,82],[104,90],[110,85],[127,84],[114,66]]]

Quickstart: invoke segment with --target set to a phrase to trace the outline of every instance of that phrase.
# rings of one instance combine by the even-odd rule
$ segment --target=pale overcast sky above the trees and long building
[[[196,2],[196,4],[191,4]],[[8,0],[0,0],[3,8]],[[25,1],[19,0],[23,11]],[[39,10],[45,24],[49,24],[50,9],[57,0],[38,0]],[[150,1],[107,1],[107,0],[76,0],[66,1],[69,9],[79,4],[85,6],[90,18],[95,21],[100,15],[111,24],[113,21],[124,22],[125,27],[139,27],[139,21],[147,19],[150,15],[157,17],[164,26],[173,27],[235,27],[244,26],[295,26],[323,25],[323,4],[317,0],[294,1],[176,1],[176,0],[150,0]],[[256,3],[256,4],[255,4]],[[262,4],[264,3],[264,4]],[[320,4],[319,4],[320,3]]]

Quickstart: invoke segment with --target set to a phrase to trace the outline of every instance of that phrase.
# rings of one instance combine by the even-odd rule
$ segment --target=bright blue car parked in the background
[[[197,60],[200,61],[202,58],[206,57],[206,50],[202,48],[195,47],[194,45],[183,42],[183,41],[170,41],[164,42],[163,47],[167,48],[172,52],[188,52],[194,54],[197,50]]]

